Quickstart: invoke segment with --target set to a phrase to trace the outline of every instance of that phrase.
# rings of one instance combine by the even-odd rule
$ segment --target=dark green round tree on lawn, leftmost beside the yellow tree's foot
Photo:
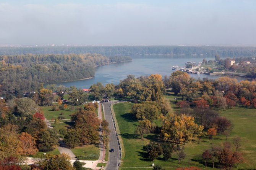
[[[147,155],[152,161],[154,161],[154,159],[158,158],[160,155],[163,154],[162,147],[159,143],[150,141],[146,148]]]

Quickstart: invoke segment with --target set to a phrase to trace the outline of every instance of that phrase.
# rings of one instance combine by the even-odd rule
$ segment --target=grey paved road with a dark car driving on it
[[[116,102],[115,102],[116,103]],[[119,152],[119,146],[118,146],[118,140],[117,135],[113,123],[113,118],[111,115],[110,105],[111,102],[108,103],[102,103],[105,119],[107,122],[109,122],[109,129],[110,129],[110,135],[109,135],[109,149],[113,148],[115,151],[113,153],[109,152],[109,159],[107,162],[107,166],[105,170],[117,170],[118,169],[118,163],[120,162],[120,152]]]

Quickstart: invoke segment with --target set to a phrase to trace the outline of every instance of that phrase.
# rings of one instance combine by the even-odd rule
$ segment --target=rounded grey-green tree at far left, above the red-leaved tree
[[[37,111],[37,105],[30,98],[20,98],[17,103],[17,110],[25,115],[34,114]]]

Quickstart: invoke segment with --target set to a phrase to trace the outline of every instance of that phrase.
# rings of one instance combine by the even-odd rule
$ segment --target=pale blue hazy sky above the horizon
[[[0,0],[0,45],[256,46],[256,0]]]

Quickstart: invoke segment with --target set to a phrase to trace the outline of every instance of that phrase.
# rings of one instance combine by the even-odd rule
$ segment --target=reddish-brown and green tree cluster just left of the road
[[[89,103],[83,109],[71,114],[71,121],[74,121],[74,127],[68,129],[64,141],[70,148],[76,146],[88,145],[99,140],[100,119],[95,110],[97,104]]]

